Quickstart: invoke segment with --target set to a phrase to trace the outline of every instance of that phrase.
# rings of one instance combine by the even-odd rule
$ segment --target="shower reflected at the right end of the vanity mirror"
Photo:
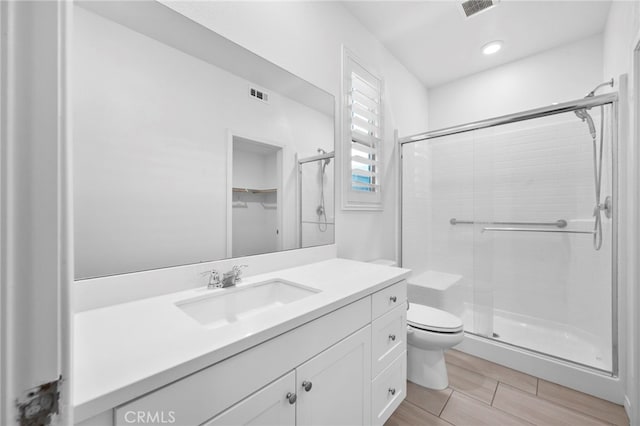
[[[298,160],[299,247],[334,241],[334,151]]]

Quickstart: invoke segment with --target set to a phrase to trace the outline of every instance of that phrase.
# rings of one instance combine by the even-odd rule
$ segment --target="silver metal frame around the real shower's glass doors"
[[[398,192],[400,200],[400,214],[398,220],[398,263],[403,266],[402,255],[402,217],[403,217],[403,151],[402,148],[405,144],[421,142],[429,139],[436,139],[443,136],[455,135],[458,133],[471,132],[479,129],[486,129],[489,127],[496,127],[504,124],[517,123],[519,121],[532,120],[536,118],[548,117],[551,115],[562,114],[566,112],[573,112],[579,109],[589,109],[597,106],[603,106],[611,104],[611,178],[612,178],[612,235],[611,235],[611,371],[602,370],[589,365],[581,364],[572,360],[554,356],[548,353],[536,351],[534,349],[518,346],[502,340],[496,340],[491,337],[481,336],[479,334],[469,332],[465,330],[465,334],[472,334],[481,339],[489,341],[496,341],[502,344],[506,344],[515,348],[519,348],[534,354],[543,355],[562,362],[569,362],[571,364],[580,366],[582,368],[589,369],[591,371],[598,372],[600,374],[606,374],[611,377],[618,377],[619,374],[619,307],[618,307],[618,92],[606,93],[598,96],[589,96],[574,101],[563,102],[556,105],[550,105],[541,108],[535,108],[527,111],[517,112],[514,114],[507,114],[500,117],[492,117],[485,120],[474,121],[471,123],[465,123],[458,126],[446,127],[443,129],[433,130],[429,132],[418,133],[411,136],[404,136],[397,138],[398,149]],[[604,119],[604,116],[601,118]]]

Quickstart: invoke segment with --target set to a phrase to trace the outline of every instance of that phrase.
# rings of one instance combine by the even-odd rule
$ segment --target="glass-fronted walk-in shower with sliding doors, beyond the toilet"
[[[616,108],[590,94],[399,141],[402,266],[454,284],[468,336],[617,374]]]

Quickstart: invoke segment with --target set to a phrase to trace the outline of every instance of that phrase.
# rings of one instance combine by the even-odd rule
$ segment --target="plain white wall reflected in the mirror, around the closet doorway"
[[[294,156],[326,148],[332,117],[250,99],[246,80],[80,7],[74,31],[77,278],[226,257],[229,130],[285,147],[296,222]]]

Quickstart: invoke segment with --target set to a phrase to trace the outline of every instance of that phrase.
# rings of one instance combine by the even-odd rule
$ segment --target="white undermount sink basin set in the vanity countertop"
[[[176,302],[176,306],[210,328],[241,321],[295,302],[320,290],[273,279],[240,287],[210,290],[210,294]]]

